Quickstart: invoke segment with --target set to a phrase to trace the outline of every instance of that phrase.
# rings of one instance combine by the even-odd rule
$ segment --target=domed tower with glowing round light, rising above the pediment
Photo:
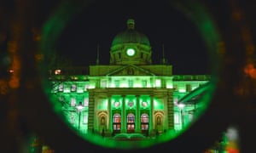
[[[152,51],[148,37],[135,30],[133,19],[126,24],[127,29],[113,38],[110,65],[150,65]]]

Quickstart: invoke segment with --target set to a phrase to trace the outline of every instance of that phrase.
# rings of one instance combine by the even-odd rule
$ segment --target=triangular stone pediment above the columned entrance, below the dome
[[[107,76],[155,76],[151,71],[137,65],[124,65],[108,73]]]

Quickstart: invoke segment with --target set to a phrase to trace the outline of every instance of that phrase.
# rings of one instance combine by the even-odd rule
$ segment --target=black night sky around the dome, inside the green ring
[[[73,15],[62,32],[57,50],[74,65],[95,65],[99,44],[100,64],[108,65],[113,37],[126,29],[133,18],[137,31],[151,43],[154,64],[160,64],[162,46],[173,74],[206,74],[207,49],[194,22],[166,1],[104,0]]]

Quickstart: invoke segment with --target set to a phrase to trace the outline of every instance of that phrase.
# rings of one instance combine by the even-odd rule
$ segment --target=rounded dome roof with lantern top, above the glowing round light
[[[127,20],[127,29],[119,32],[112,42],[112,46],[123,43],[141,43],[150,46],[148,37],[143,33],[134,30],[135,22],[132,19]]]

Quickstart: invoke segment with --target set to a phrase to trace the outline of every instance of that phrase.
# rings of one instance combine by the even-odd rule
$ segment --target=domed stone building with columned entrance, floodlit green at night
[[[143,133],[179,131],[193,119],[195,103],[177,102],[201,85],[207,75],[173,75],[163,59],[152,64],[148,37],[127,20],[110,48],[109,65],[55,68],[50,71],[55,103],[66,121],[81,133]],[[158,51],[160,52],[160,51]],[[80,107],[79,107],[80,106]]]

